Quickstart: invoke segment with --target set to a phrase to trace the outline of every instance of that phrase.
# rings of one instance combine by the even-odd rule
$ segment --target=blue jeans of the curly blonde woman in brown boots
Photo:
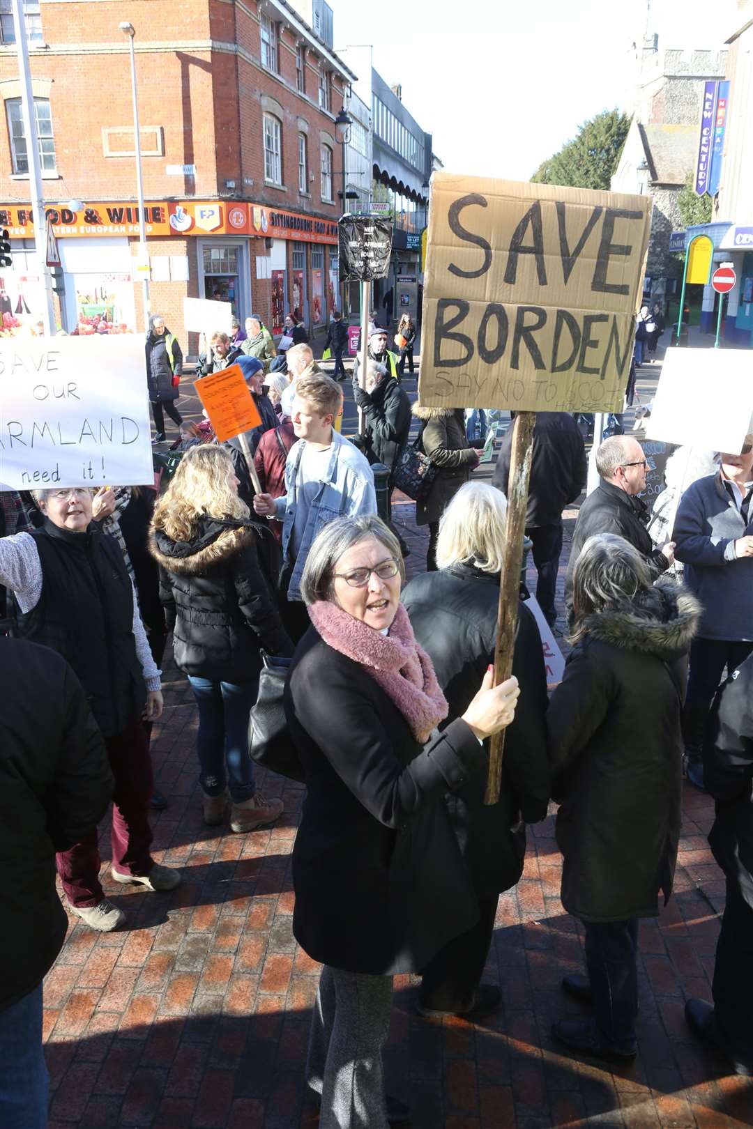
[[[256,791],[248,755],[248,715],[259,682],[210,682],[189,677],[199,707],[199,777],[208,796],[221,796],[226,781],[234,804]]]

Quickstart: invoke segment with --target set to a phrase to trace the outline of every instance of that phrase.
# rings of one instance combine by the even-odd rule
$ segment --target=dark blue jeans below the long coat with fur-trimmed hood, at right
[[[599,1042],[611,1050],[636,1049],[638,1014],[638,919],[584,921],[586,968]]]

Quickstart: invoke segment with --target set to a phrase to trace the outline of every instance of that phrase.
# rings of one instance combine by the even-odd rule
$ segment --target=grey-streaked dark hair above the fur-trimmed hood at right
[[[616,533],[588,537],[572,574],[570,641],[583,639],[594,612],[631,610],[638,593],[650,586],[648,564],[629,541]]]

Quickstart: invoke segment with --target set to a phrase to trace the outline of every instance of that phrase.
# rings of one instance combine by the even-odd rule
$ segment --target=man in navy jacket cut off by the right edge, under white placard
[[[724,676],[753,650],[753,435],[724,452],[715,474],[693,482],[677,509],[674,536],[684,583],[703,605],[690,648],[683,711],[688,779],[703,787],[702,745],[711,700]]]

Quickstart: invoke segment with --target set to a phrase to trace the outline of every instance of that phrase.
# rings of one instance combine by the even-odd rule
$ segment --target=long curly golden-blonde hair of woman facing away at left
[[[202,517],[248,517],[248,507],[229,485],[233,460],[221,447],[192,447],[178,463],[155,506],[154,530],[172,541],[189,541]]]

